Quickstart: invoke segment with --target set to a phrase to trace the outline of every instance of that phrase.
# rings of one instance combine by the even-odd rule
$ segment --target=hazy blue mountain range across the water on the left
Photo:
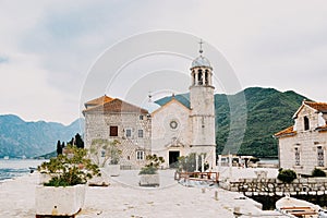
[[[84,120],[77,119],[70,125],[56,122],[25,122],[17,116],[0,116],[0,158],[35,157],[56,150],[57,141],[70,141],[82,134]]]

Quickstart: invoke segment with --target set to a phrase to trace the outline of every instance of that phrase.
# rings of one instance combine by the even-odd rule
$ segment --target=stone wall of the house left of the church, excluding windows
[[[140,116],[143,116],[142,119]],[[118,136],[110,136],[110,125],[118,126]],[[94,138],[118,140],[122,150],[122,169],[140,169],[145,165],[146,155],[150,155],[150,126],[147,114],[88,112],[85,114],[85,147],[88,148]],[[130,137],[126,137],[128,129],[132,133]],[[143,130],[143,137],[138,136],[138,130]],[[144,152],[143,160],[136,158],[137,152]]]

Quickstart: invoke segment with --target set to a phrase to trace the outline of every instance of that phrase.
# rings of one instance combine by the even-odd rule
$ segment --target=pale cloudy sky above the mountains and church
[[[171,43],[161,38],[170,52],[122,62],[120,70],[113,69],[116,83],[98,77],[107,86],[97,88],[92,83],[93,92],[84,95],[101,57],[114,51],[101,66],[111,72],[117,59],[135,51],[137,45],[124,47],[133,37],[161,31],[181,33],[185,40],[169,47]],[[225,88],[219,82],[223,70],[217,63],[217,93],[261,86],[327,101],[324,0],[0,0],[0,114],[17,114],[26,121],[70,124],[83,117],[85,100],[104,94],[126,99],[142,96],[133,102],[140,105],[146,92],[186,93],[199,38],[205,41],[204,55],[213,63],[216,59],[209,58],[209,51],[217,49],[226,59],[221,64],[232,69],[230,80],[238,84],[237,89]],[[194,53],[174,53],[173,47],[186,45],[192,36]],[[152,40],[143,40],[144,48]]]

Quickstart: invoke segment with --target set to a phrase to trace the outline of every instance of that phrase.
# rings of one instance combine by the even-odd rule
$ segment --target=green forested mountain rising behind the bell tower
[[[157,100],[165,105],[171,97]],[[189,94],[175,98],[189,106]],[[272,135],[293,124],[292,116],[306,97],[292,90],[251,87],[235,95],[215,95],[217,154],[277,156]],[[244,133],[244,134],[243,134]]]

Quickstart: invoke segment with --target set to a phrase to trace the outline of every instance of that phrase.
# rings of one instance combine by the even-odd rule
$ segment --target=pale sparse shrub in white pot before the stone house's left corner
[[[120,142],[108,141],[104,138],[95,138],[90,144],[90,157],[100,168],[111,177],[118,177],[120,173],[119,160],[122,150],[119,149]]]

